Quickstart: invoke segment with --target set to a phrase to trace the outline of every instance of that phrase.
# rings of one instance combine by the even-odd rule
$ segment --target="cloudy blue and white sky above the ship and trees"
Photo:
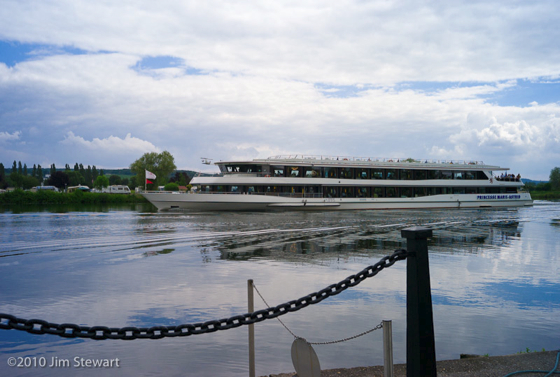
[[[0,0],[0,162],[560,166],[560,2]]]

